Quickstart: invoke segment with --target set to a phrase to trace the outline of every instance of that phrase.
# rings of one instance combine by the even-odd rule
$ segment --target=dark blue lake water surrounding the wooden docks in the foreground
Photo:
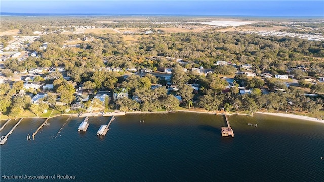
[[[75,176],[70,181],[324,181],[322,123],[233,115],[228,118],[235,137],[224,138],[224,116],[127,114],[115,117],[106,136],[96,136],[110,118],[90,117],[87,132],[78,133],[84,118],[73,117],[55,138],[67,116],[55,117],[32,141],[26,136],[44,119],[24,119],[0,146],[1,175]],[[1,135],[16,122],[10,121]]]

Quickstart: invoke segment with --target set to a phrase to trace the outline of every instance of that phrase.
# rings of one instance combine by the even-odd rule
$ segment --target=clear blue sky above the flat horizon
[[[323,16],[324,1],[218,0],[0,0],[0,12]]]

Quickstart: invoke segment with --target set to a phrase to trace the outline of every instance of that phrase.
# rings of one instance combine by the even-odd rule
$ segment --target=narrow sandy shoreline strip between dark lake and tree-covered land
[[[189,110],[178,110],[176,112],[189,112],[189,113],[198,113],[198,114],[215,114],[215,115],[224,115],[225,113],[220,113],[220,112],[212,112],[212,111],[189,111]],[[114,114],[116,113],[116,114]],[[58,117],[58,116],[64,116],[64,115],[72,115],[73,117],[97,117],[97,116],[123,116],[125,114],[154,114],[154,113],[170,113],[168,111],[133,111],[133,112],[121,112],[121,111],[115,111],[115,112],[110,112],[107,114],[104,114],[103,112],[94,112],[94,113],[83,113],[83,114],[76,114],[76,113],[71,113],[71,114],[59,114],[59,115],[54,115],[51,116],[50,118]],[[269,112],[256,112],[255,114],[265,114],[265,115],[271,115],[271,116],[278,116],[278,117],[287,117],[287,118],[294,118],[294,119],[299,119],[299,120],[304,120],[304,121],[313,121],[313,122],[319,122],[319,123],[324,123],[324,119],[318,119],[318,118],[313,118],[309,116],[301,116],[301,115],[296,115],[296,114],[286,114],[286,113],[269,113]],[[231,115],[242,115],[242,116],[250,116],[254,117],[253,115],[249,114],[241,114],[241,113],[231,113],[228,114],[228,116]],[[19,118],[19,117],[18,117]],[[41,119],[47,119],[44,117],[38,117],[38,116],[32,116],[32,117],[25,117],[25,118],[41,118]],[[17,118],[11,118],[11,119],[17,119]],[[7,120],[7,119],[2,119],[2,120]],[[0,121],[2,121],[0,120]]]

